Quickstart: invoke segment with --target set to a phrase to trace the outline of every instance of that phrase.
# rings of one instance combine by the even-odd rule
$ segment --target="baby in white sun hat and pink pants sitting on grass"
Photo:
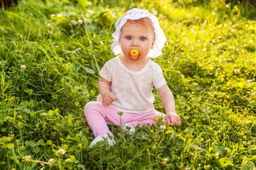
[[[115,144],[107,125],[111,122],[129,130],[129,134],[136,132],[137,125],[155,124],[154,118],[161,115],[167,125],[181,124],[163,71],[148,58],[160,56],[166,42],[157,17],[142,9],[131,9],[116,21],[112,36],[111,49],[115,55],[120,55],[106,62],[99,72],[97,102],[88,102],[84,107],[84,115],[95,136],[89,147],[104,139],[109,145]],[[153,85],[166,114],[154,109]]]

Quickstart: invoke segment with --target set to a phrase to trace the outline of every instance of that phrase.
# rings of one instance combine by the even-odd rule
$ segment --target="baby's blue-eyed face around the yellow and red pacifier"
[[[146,28],[140,23],[128,20],[122,26],[119,42],[122,52],[126,57],[129,57],[129,52],[132,49],[136,49],[140,52],[139,59],[143,59],[147,56],[150,48],[154,48],[154,37],[154,28]]]

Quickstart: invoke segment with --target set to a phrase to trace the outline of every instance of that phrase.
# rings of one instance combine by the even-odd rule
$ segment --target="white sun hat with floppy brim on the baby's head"
[[[125,14],[123,14],[122,17],[120,17],[116,21],[116,25],[115,25],[116,31],[112,34],[114,41],[113,41],[113,44],[111,45],[111,49],[115,55],[122,54],[121,46],[119,44],[119,38],[120,38],[122,26],[125,25],[128,19],[138,20],[144,17],[148,17],[151,20],[152,25],[154,27],[154,33],[155,33],[154,48],[149,50],[147,57],[157,58],[158,56],[163,54],[161,50],[166,42],[166,36],[159,25],[159,21],[157,17],[155,17],[153,14],[150,14],[146,10],[133,8],[127,11]]]

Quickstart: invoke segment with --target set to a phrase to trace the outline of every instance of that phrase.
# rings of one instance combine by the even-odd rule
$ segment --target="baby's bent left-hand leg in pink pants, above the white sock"
[[[84,116],[93,131],[95,137],[113,133],[109,130],[107,123],[110,123],[112,115],[117,115],[116,109],[105,106],[102,102],[88,102],[84,106]],[[116,116],[116,117],[117,117]]]

